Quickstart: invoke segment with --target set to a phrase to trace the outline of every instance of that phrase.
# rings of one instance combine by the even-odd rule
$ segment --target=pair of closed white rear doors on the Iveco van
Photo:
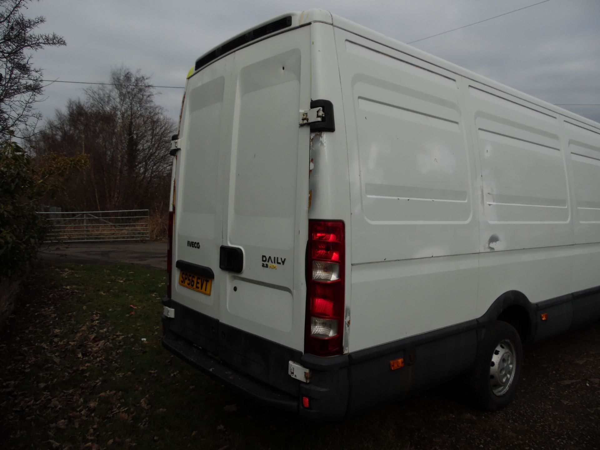
[[[310,145],[299,110],[310,107],[310,70],[305,26],[188,81],[173,257],[214,272],[206,295],[179,285],[175,269],[175,301],[296,350],[304,347]]]

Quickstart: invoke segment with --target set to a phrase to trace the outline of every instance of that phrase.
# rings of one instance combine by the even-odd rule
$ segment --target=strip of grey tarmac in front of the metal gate
[[[53,263],[133,263],[167,269],[167,242],[83,242],[55,245],[40,252]]]

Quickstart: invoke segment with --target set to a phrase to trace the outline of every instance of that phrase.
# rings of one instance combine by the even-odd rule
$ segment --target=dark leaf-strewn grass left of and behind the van
[[[0,447],[406,448],[377,415],[362,429],[305,424],[172,356],[161,346],[165,283],[136,265],[38,272],[0,345]]]

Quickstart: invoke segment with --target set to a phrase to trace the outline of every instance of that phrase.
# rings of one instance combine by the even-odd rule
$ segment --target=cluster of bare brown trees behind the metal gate
[[[37,154],[89,155],[64,208],[159,210],[169,195],[170,136],[175,122],[154,102],[149,77],[121,67],[109,86],[84,89],[70,100],[34,141]]]

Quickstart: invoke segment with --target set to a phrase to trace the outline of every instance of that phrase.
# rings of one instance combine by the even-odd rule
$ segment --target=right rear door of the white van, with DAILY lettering
[[[244,270],[224,277],[220,320],[302,349],[310,130],[298,121],[310,107],[310,28],[238,50],[235,64],[223,244],[243,248]]]

